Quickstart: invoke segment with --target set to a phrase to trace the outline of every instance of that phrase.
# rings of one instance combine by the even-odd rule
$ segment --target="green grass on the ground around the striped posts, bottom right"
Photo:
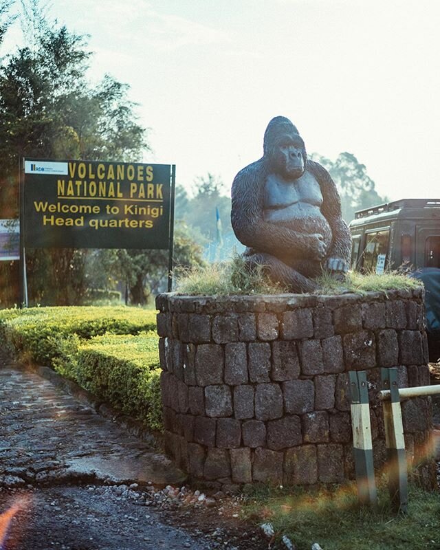
[[[251,487],[243,504],[245,518],[272,523],[276,536],[287,535],[296,550],[318,542],[324,550],[421,550],[440,548],[440,498],[410,485],[408,515],[391,511],[386,489],[377,509],[360,508],[354,485],[306,492],[302,489]]]

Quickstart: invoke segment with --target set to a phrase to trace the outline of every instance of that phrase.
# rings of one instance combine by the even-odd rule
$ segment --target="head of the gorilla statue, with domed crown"
[[[265,131],[264,157],[270,170],[287,180],[298,179],[305,170],[307,155],[303,138],[288,118],[276,117]]]

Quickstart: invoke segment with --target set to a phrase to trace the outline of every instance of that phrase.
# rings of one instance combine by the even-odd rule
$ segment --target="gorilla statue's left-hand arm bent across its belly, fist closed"
[[[326,246],[320,235],[304,234],[264,221],[262,181],[267,168],[263,158],[240,170],[232,183],[231,222],[237,239],[248,248],[274,256],[277,250],[283,250],[289,251],[293,259],[309,256],[324,259]]]

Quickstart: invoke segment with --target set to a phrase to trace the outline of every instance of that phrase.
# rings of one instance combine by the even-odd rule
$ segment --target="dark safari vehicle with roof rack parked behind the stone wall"
[[[351,269],[402,267],[423,281],[430,360],[440,357],[440,199],[401,199],[355,212]]]

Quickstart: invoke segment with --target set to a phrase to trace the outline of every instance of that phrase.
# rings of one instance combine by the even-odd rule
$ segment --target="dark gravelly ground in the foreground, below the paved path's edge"
[[[22,502],[5,550],[267,549],[254,527],[219,518],[219,508],[164,510],[124,496],[115,487],[39,487],[1,494],[1,508]],[[218,505],[217,505],[218,506]],[[223,507],[236,511],[232,499]]]

